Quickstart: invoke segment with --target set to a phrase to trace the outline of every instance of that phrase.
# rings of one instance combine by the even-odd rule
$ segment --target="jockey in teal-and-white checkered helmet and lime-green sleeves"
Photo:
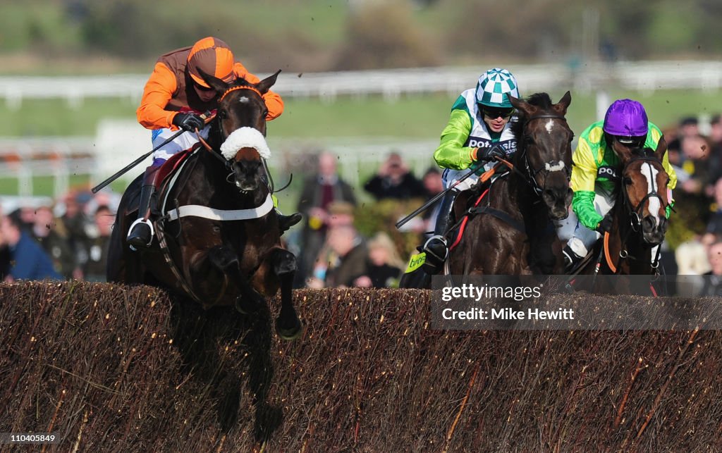
[[[462,92],[453,107],[446,127],[441,133],[439,147],[434,159],[444,168],[444,188],[449,188],[469,172],[478,161],[487,162],[442,198],[438,211],[434,235],[423,247],[425,252],[424,271],[439,273],[448,256],[445,234],[450,226],[450,216],[456,195],[471,188],[479,175],[488,170],[494,157],[510,158],[516,151],[516,138],[511,126],[514,107],[506,94],[520,97],[514,76],[506,69],[490,69],[479,77],[477,87]]]

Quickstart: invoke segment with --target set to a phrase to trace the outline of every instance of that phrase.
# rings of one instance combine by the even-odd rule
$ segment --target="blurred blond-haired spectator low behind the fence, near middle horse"
[[[403,268],[404,262],[391,237],[385,232],[378,232],[368,242],[366,273],[356,279],[355,286],[397,288]]]

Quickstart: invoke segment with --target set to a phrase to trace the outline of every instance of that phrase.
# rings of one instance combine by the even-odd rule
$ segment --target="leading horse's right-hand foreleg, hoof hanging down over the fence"
[[[288,250],[271,250],[267,261],[281,289],[281,312],[276,320],[276,331],[284,340],[294,340],[301,334],[303,325],[293,307],[292,286],[297,263],[296,257]]]

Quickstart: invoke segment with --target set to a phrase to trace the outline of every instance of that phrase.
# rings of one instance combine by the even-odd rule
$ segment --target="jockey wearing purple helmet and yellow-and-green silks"
[[[614,206],[622,170],[619,157],[612,150],[612,141],[630,147],[656,149],[661,138],[662,132],[648,121],[643,105],[628,99],[614,101],[604,120],[592,123],[581,133],[572,154],[573,212],[567,223],[576,224],[576,227],[564,248],[567,269],[585,257],[601,234],[609,229],[605,216]],[[666,153],[662,166],[669,174],[667,190],[671,200],[677,174]],[[667,217],[669,212],[668,206]]]

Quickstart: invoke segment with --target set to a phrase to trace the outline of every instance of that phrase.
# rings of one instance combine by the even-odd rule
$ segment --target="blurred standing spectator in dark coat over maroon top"
[[[321,153],[318,156],[318,172],[303,184],[297,210],[303,214],[305,223],[301,232],[301,254],[296,273],[295,286],[303,286],[313,271],[314,261],[326,240],[329,221],[329,205],[345,201],[356,206],[353,189],[339,177],[336,157]]]

